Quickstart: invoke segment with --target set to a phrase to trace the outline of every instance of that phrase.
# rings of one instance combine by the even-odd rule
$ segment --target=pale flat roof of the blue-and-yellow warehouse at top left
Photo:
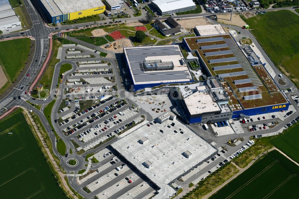
[[[80,12],[90,8],[104,6],[101,0],[40,0],[47,8],[51,16],[58,16],[67,13]],[[79,15],[78,15],[79,17]]]

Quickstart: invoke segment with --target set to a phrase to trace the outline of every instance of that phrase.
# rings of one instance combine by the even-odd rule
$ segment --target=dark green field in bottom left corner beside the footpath
[[[1,120],[0,129],[1,198],[67,198],[22,112]]]

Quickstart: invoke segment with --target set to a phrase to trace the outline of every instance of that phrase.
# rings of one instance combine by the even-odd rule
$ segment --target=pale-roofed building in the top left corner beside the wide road
[[[17,31],[21,29],[22,29],[21,21],[19,17],[16,16],[16,13],[12,9],[9,1],[1,1],[0,2],[0,30],[4,32],[5,30]]]

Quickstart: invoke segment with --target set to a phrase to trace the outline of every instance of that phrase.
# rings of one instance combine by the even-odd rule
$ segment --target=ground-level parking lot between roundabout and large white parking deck
[[[154,195],[155,185],[107,148],[98,152],[96,157],[101,160],[101,166],[96,172],[79,180],[79,183],[98,198],[148,199]]]

